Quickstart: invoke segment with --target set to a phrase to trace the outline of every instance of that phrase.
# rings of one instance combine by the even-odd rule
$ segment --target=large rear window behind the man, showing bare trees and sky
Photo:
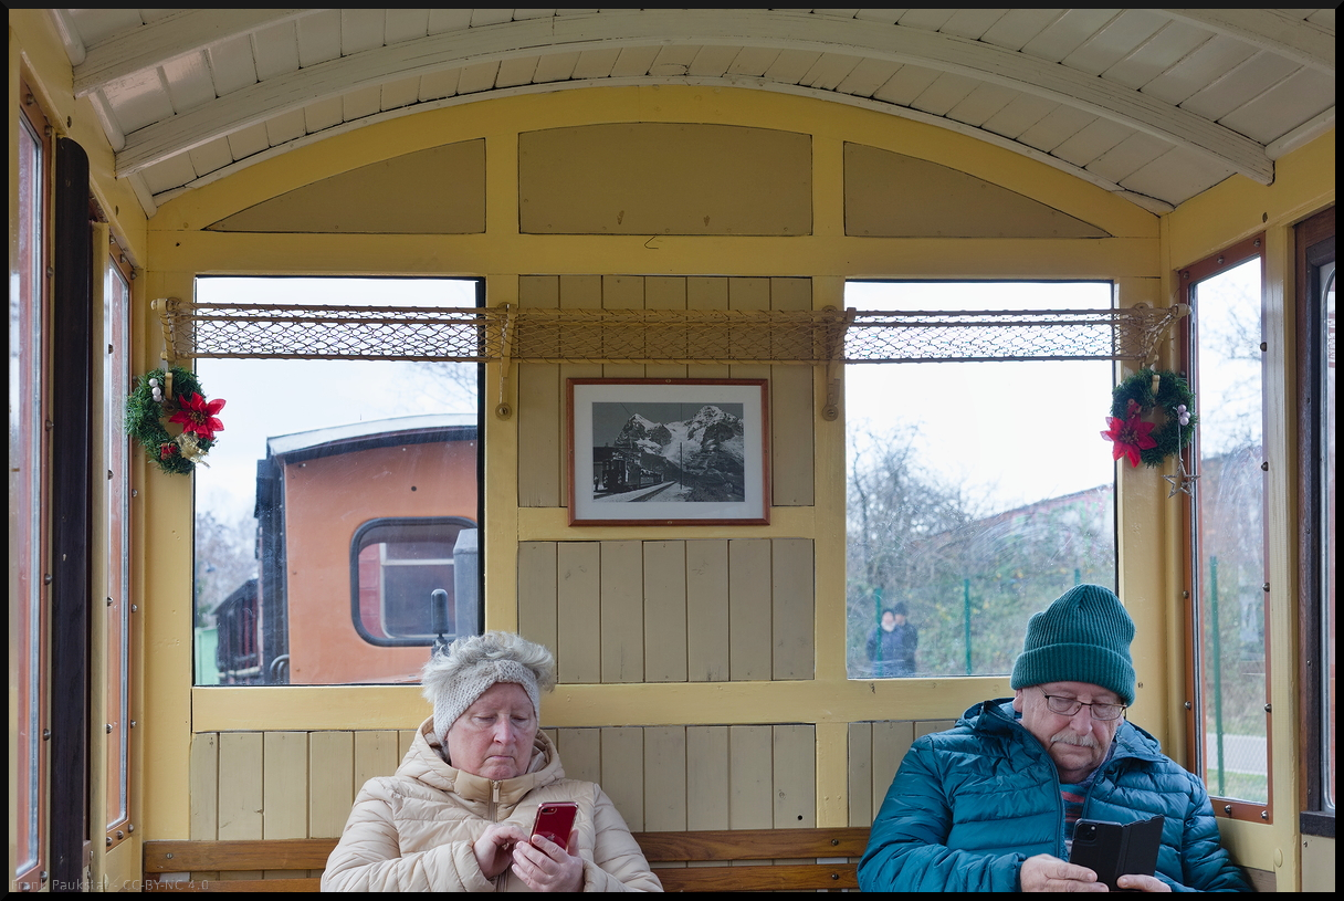
[[[1110,305],[1109,282],[845,286],[860,311]],[[1116,588],[1114,464],[1097,434],[1111,373],[1109,360],[845,368],[849,678],[1007,674],[1032,613],[1079,582]]]

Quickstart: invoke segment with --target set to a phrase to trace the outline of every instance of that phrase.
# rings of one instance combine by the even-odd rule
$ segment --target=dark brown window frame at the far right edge
[[[1325,709],[1324,682],[1329,678],[1324,641],[1327,639],[1322,592],[1322,561],[1333,561],[1321,546],[1321,508],[1327,496],[1321,484],[1321,440],[1325,434],[1320,407],[1321,367],[1325,348],[1317,331],[1318,268],[1335,262],[1335,207],[1324,210],[1294,227],[1296,319],[1297,319],[1297,463],[1298,463],[1298,684],[1301,684],[1301,728],[1298,730],[1300,796],[1298,820],[1304,835],[1335,836],[1335,811],[1324,799]],[[1333,534],[1331,535],[1333,542]],[[1321,652],[1317,655],[1316,652]]]

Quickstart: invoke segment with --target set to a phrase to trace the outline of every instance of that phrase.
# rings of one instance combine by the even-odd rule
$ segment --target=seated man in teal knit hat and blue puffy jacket
[[[1141,892],[1249,892],[1219,843],[1198,777],[1124,718],[1134,701],[1134,623],[1099,585],[1031,617],[1016,694],[976,705],[911,745],[859,863],[864,892],[1105,892],[1067,863],[1079,818],[1165,816],[1156,875]]]

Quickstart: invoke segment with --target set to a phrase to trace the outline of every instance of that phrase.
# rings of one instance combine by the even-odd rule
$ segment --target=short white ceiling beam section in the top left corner
[[[122,31],[86,48],[83,61],[74,67],[75,97],[230,38],[313,12],[320,9],[185,9]]]

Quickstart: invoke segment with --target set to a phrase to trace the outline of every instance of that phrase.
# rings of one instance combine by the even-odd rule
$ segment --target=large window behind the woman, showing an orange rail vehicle
[[[323,307],[482,304],[480,282],[462,278],[202,277],[196,295]],[[437,637],[433,590],[454,572],[458,531],[481,519],[478,370],[387,359],[196,360],[207,399],[224,399],[224,429],[194,475],[198,684],[418,679]],[[401,520],[452,527],[360,531]],[[383,594],[364,597],[367,616],[356,600],[352,619],[359,542],[356,561],[376,563]],[[478,578],[470,601],[442,588],[449,608],[462,623],[470,608],[469,628],[478,628]]]

